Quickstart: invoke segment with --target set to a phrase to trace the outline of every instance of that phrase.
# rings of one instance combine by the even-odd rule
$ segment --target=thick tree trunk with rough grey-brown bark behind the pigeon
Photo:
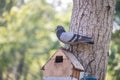
[[[86,72],[105,79],[115,0],[73,0],[70,31],[92,37],[95,44],[73,46],[73,53]]]

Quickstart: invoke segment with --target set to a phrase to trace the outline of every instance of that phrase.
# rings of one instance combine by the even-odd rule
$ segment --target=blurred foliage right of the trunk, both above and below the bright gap
[[[120,24],[120,0],[116,0],[115,21]],[[120,79],[120,30],[112,33],[107,79]]]

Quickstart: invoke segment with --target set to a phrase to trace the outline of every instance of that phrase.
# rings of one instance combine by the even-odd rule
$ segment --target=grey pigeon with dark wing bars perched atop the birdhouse
[[[64,44],[74,45],[79,43],[88,43],[94,44],[94,41],[91,37],[74,34],[73,32],[66,32],[64,27],[59,25],[56,28],[57,38]]]

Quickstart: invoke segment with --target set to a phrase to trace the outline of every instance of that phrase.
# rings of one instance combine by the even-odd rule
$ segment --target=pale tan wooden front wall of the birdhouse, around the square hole
[[[62,63],[55,63],[56,56],[63,56]],[[73,65],[61,49],[59,49],[44,66],[44,76],[70,77]]]

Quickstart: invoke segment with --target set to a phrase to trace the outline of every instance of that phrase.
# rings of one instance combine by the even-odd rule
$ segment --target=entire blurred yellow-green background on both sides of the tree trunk
[[[106,80],[120,80],[120,0]],[[62,45],[57,25],[69,30],[72,0],[0,0],[0,80],[42,80],[40,70]]]

